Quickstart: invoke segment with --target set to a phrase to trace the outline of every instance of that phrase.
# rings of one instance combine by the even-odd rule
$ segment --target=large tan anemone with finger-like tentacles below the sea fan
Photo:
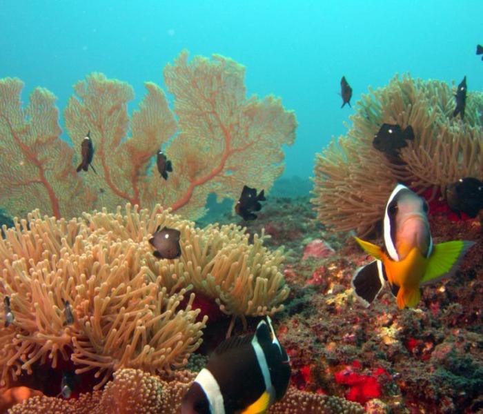
[[[152,255],[148,239],[158,226],[181,232],[179,259]],[[121,368],[171,373],[201,344],[207,318],[197,322],[198,290],[233,317],[273,314],[288,296],[282,253],[266,250],[263,237],[248,244],[235,226],[195,228],[159,205],[69,221],[37,210],[4,230],[0,293],[14,320],[5,326],[3,306],[1,386],[66,362],[77,375],[95,373],[95,388]]]

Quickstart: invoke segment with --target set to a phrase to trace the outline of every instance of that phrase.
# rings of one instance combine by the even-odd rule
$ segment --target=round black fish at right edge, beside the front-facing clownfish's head
[[[476,217],[483,209],[483,182],[474,177],[459,179],[446,187],[446,202],[460,217],[461,213]]]

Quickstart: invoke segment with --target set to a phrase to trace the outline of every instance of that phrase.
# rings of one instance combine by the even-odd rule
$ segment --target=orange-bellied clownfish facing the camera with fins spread
[[[373,302],[386,279],[398,308],[416,306],[421,299],[420,286],[453,274],[475,244],[456,240],[433,245],[427,213],[426,201],[398,184],[384,212],[384,247],[355,237],[376,259],[357,269],[352,280],[355,294],[364,305]]]

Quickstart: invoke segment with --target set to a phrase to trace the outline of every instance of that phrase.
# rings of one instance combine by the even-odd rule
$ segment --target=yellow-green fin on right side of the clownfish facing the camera
[[[466,240],[453,240],[436,244],[433,253],[428,258],[426,273],[421,279],[421,284],[436,282],[442,277],[449,277],[455,273],[462,258],[475,242]]]

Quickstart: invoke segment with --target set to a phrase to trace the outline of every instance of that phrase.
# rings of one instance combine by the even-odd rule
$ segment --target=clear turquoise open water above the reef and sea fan
[[[246,66],[248,94],[273,93],[296,112],[297,140],[285,176],[313,175],[315,152],[346,132],[339,81],[354,90],[384,86],[396,72],[483,88],[483,1],[28,1],[0,0],[0,77],[59,97],[90,72],[130,83],[130,111],[144,81],[184,48]],[[62,123],[62,121],[61,121]]]

